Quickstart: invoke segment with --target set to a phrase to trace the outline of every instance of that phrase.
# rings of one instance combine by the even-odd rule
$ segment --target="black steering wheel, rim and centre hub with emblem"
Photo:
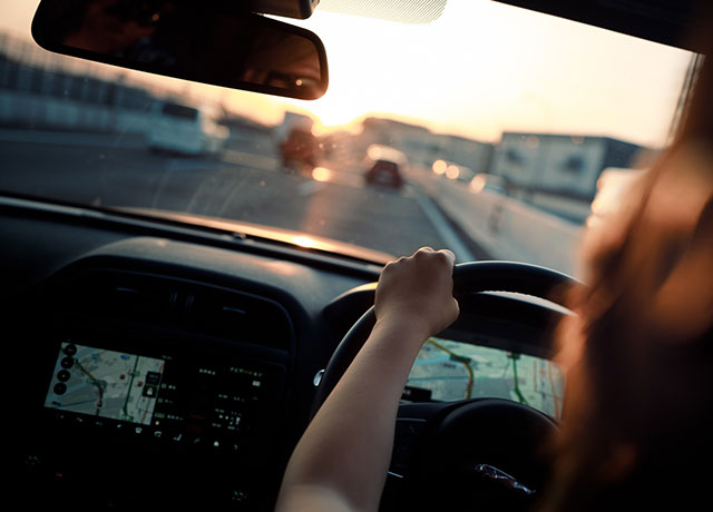
[[[566,274],[514,262],[453,268],[453,295],[511,292],[561,303],[582,283]],[[373,306],[351,327],[324,370],[312,414],[324,403],[375,324]],[[545,450],[557,423],[504,398],[401,404],[382,510],[526,510],[545,484]]]

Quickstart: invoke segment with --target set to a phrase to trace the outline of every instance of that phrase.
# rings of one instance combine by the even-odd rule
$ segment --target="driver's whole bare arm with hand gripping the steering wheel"
[[[377,324],[297,443],[277,511],[378,510],[411,365],[426,339],[458,317],[453,260],[422,248],[384,267]]]

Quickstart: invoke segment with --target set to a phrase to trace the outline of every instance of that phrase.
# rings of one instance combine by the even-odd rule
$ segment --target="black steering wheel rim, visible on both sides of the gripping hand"
[[[478,292],[509,292],[545,298],[560,304],[578,279],[539,265],[518,262],[484,260],[458,264],[453,267],[453,296]],[[377,322],[371,306],[349,329],[330,358],[314,395],[311,417],[314,417],[351,362],[354,360]]]

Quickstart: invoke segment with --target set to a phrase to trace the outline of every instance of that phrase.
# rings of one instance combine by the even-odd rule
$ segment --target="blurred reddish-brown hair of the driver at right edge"
[[[713,56],[704,10],[697,46]],[[588,287],[558,327],[567,402],[540,509],[694,504],[713,454],[710,58],[673,144],[582,250]]]

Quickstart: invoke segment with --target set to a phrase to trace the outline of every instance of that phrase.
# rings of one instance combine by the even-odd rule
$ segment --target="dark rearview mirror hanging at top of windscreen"
[[[50,51],[156,75],[300,99],[324,95],[326,53],[314,33],[229,3],[243,4],[42,0],[32,37]]]

